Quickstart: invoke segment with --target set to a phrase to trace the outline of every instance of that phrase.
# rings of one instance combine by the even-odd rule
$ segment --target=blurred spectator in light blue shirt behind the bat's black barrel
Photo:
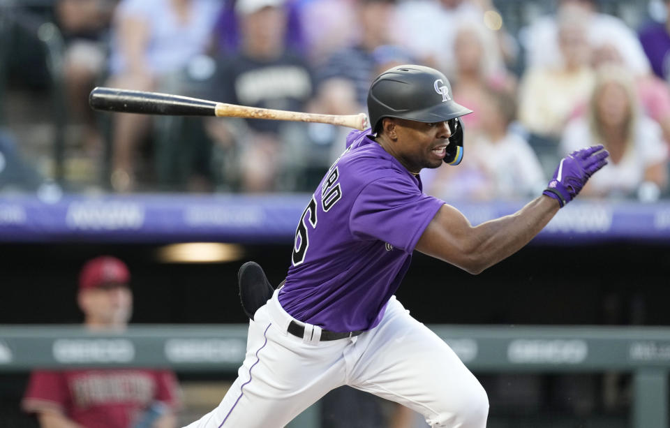
[[[204,53],[221,4],[218,0],[121,0],[114,15],[110,86],[174,91],[189,61]],[[149,135],[149,116],[119,114],[112,131],[116,191],[135,188],[137,147]]]

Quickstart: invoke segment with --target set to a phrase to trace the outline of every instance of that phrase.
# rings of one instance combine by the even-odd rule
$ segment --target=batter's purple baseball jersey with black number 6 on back
[[[279,292],[293,318],[333,332],[377,325],[445,202],[422,192],[366,131],[352,131],[302,214]]]

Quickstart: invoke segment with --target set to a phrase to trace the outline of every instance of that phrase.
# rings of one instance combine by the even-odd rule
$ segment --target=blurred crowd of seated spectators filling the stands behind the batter
[[[96,113],[89,91],[348,115],[366,111],[381,71],[426,64],[474,110],[463,163],[425,170],[427,193],[539,195],[561,157],[602,144],[610,163],[583,194],[657,200],[668,195],[670,1],[651,2],[666,16],[632,28],[599,0],[555,0],[514,34],[491,0],[56,0],[64,108],[77,129],[64,163],[84,156],[94,187],[117,193],[313,191],[348,129]],[[0,134],[0,154],[16,151],[12,140]]]

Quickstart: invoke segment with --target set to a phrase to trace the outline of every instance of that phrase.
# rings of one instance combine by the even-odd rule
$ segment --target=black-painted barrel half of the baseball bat
[[[94,110],[168,116],[216,116],[214,101],[188,96],[96,87],[89,95]]]

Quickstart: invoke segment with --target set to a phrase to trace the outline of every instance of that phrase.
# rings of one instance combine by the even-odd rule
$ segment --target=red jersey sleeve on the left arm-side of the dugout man
[[[58,411],[66,414],[69,401],[70,394],[63,374],[58,371],[34,371],[21,407],[28,413]]]

